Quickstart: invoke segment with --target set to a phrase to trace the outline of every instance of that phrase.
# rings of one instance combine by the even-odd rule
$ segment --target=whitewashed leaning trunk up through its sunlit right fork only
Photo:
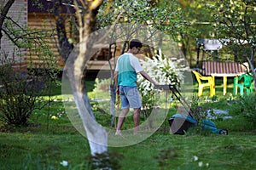
[[[93,40],[89,39],[89,36],[96,25],[96,14],[98,13],[99,7],[102,5],[102,0],[74,0],[74,4],[79,25],[79,54],[73,63],[73,78],[76,82],[76,88],[73,89],[76,91],[73,91],[73,93],[74,97],[77,97],[76,104],[79,109],[79,115],[82,118],[84,129],[90,142],[90,152],[94,155],[108,150],[108,134],[96,121],[92,121],[93,124],[90,123],[90,117],[94,118],[94,116],[90,109],[83,78],[85,76],[84,65],[90,59],[89,54],[93,46]],[[76,94],[78,96],[76,96]],[[85,109],[87,109],[88,112],[84,113],[84,106],[86,106]]]

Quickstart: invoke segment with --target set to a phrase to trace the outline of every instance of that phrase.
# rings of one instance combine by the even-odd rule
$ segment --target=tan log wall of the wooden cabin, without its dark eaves
[[[71,24],[67,20],[66,24],[67,29],[67,37],[71,37]],[[60,68],[63,68],[65,65],[63,63],[63,60],[58,52],[57,44],[57,36],[55,32],[55,20],[54,16],[47,14],[47,13],[29,13],[28,14],[28,27],[32,29],[42,30],[44,28],[44,31],[49,31],[48,34],[52,34],[52,36],[45,37],[48,41],[48,45],[50,50],[54,53],[55,58],[58,59],[57,65]],[[87,63],[87,69],[88,70],[109,70],[108,66],[108,44],[98,47],[99,51],[90,58],[90,61]],[[113,52],[113,48],[112,48]],[[116,50],[116,56],[119,56],[120,54],[120,48],[117,48]],[[44,65],[44,60],[37,55],[31,56],[33,67],[34,68],[42,68]],[[113,60],[113,59],[112,59]],[[113,61],[112,61],[113,64]]]

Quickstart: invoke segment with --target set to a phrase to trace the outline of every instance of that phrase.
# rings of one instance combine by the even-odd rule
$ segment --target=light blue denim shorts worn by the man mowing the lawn
[[[137,87],[119,86],[119,94],[121,97],[121,108],[141,108],[142,102]]]

